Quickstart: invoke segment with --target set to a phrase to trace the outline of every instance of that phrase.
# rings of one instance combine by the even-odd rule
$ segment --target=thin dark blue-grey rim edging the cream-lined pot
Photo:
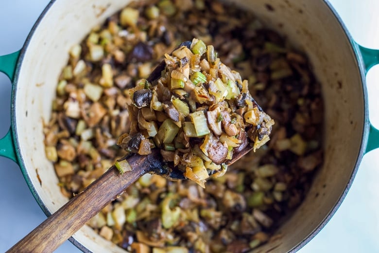
[[[15,69],[14,79],[13,79],[13,83],[12,83],[13,85],[12,85],[12,95],[11,95],[11,129],[12,129],[12,137],[13,137],[13,143],[14,143],[14,147],[15,147],[15,151],[16,151],[16,157],[17,157],[18,165],[20,166],[22,175],[23,175],[26,183],[28,184],[30,191],[32,192],[34,199],[37,201],[38,205],[41,207],[42,211],[46,214],[47,217],[51,216],[52,213],[48,210],[47,206],[45,205],[43,200],[40,198],[38,193],[36,192],[34,185],[32,183],[31,177],[28,174],[28,170],[25,167],[24,160],[20,154],[20,148],[19,148],[20,143],[18,142],[17,126],[16,126],[16,103],[15,102],[16,102],[16,95],[17,95],[16,91],[17,91],[17,85],[18,85],[18,74],[19,74],[19,70],[20,70],[21,65],[22,65],[23,58],[24,58],[25,53],[28,49],[29,42],[34,35],[35,30],[38,28],[39,23],[45,17],[46,13],[50,10],[50,8],[55,3],[55,1],[56,0],[51,0],[46,5],[45,9],[42,11],[40,16],[35,21],[30,33],[28,34],[28,36],[25,40],[24,45],[22,46],[22,48],[20,50],[20,54],[19,54],[19,57],[17,59],[17,65],[16,65],[16,69]],[[317,235],[325,227],[327,222],[331,219],[331,217],[333,217],[333,215],[336,213],[336,211],[340,207],[342,201],[345,199],[345,197],[346,197],[346,195],[347,195],[347,193],[351,187],[352,182],[354,181],[355,175],[356,175],[358,168],[361,164],[362,157],[365,154],[365,149],[366,149],[367,140],[368,140],[369,127],[370,127],[369,118],[368,118],[368,98],[367,98],[366,78],[365,78],[366,71],[365,71],[365,67],[364,67],[362,54],[359,50],[359,46],[354,41],[352,36],[350,35],[349,31],[345,27],[344,22],[342,21],[342,19],[338,15],[337,11],[332,7],[330,2],[328,0],[321,0],[321,2],[327,5],[327,8],[331,11],[331,14],[334,16],[334,18],[336,18],[337,22],[340,24],[341,28],[343,29],[344,34],[345,34],[345,38],[349,41],[350,47],[351,47],[351,49],[354,53],[354,56],[355,56],[356,64],[359,68],[359,73],[361,76],[361,83],[362,83],[362,92],[363,92],[363,110],[364,110],[364,113],[363,113],[363,132],[362,132],[361,145],[360,145],[358,157],[357,157],[357,160],[355,162],[353,171],[350,175],[349,181],[347,181],[344,192],[341,194],[341,196],[337,200],[336,204],[329,211],[327,216],[321,221],[321,223],[313,230],[312,233],[310,233],[310,235],[308,235],[302,241],[298,242],[298,244],[292,250],[289,251],[291,253],[297,252],[298,250],[300,250],[315,235]],[[74,244],[78,249],[80,249],[82,252],[91,253],[91,251],[89,251],[83,244],[81,244],[79,241],[77,241],[72,236],[69,238],[69,241],[72,244]]]

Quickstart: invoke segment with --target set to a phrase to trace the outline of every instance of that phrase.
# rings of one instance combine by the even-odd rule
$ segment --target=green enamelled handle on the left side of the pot
[[[19,54],[20,51],[17,51],[12,54],[0,56],[0,72],[5,73],[11,81],[13,81]],[[17,163],[11,128],[9,128],[6,135],[0,139],[0,156],[9,158]]]

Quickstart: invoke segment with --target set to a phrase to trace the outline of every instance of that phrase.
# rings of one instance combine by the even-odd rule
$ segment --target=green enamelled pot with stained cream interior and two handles
[[[353,181],[362,156],[379,146],[379,131],[368,121],[365,74],[379,63],[379,51],[354,42],[324,0],[232,0],[252,10],[267,26],[307,53],[322,84],[325,107],[323,167],[304,202],[257,252],[297,251],[333,216]],[[128,0],[52,0],[23,48],[0,56],[0,71],[13,82],[11,128],[0,140],[0,155],[17,162],[46,215],[68,199],[46,159],[43,123],[51,116],[58,76],[69,48]],[[75,6],[73,8],[73,6]],[[70,238],[84,252],[124,252],[84,226]]]

